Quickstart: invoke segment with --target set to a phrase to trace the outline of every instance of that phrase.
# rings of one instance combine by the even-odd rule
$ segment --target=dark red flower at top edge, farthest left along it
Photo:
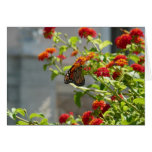
[[[44,27],[43,35],[46,39],[51,39],[56,27]]]

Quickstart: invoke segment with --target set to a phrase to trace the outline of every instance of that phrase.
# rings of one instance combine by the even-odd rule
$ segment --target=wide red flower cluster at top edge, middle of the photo
[[[88,36],[96,37],[97,33],[94,29],[88,27],[81,27],[78,31],[81,38],[87,38]]]

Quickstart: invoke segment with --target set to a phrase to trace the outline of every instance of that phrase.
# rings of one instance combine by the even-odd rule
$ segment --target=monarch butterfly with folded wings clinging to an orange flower
[[[85,78],[82,74],[82,66],[75,68],[73,65],[65,75],[64,83],[74,83],[77,86],[83,86],[85,84]]]

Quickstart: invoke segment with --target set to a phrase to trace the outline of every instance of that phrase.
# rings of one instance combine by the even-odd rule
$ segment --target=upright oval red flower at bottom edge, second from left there
[[[92,111],[86,111],[82,115],[82,121],[84,125],[88,125],[89,122],[93,119]]]

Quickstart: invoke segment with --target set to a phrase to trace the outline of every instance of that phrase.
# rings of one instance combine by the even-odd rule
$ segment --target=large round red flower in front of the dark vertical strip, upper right
[[[131,43],[131,36],[129,34],[122,34],[115,39],[117,48],[125,49]]]

